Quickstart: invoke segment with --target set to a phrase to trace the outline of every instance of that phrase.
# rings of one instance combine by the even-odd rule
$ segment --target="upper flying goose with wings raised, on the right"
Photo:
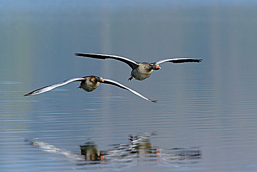
[[[131,77],[128,79],[130,81],[132,80],[133,77],[139,81],[142,81],[150,77],[150,75],[153,73],[154,70],[160,69],[159,64],[163,62],[172,62],[172,63],[198,62],[199,63],[202,60],[202,59],[194,59],[194,58],[168,58],[168,59],[158,60],[154,63],[146,63],[146,62],[141,63],[141,62],[133,61],[126,57],[113,56],[113,55],[75,53],[75,56],[99,58],[99,59],[112,58],[112,59],[125,62],[126,64],[129,65],[129,67],[132,68]]]

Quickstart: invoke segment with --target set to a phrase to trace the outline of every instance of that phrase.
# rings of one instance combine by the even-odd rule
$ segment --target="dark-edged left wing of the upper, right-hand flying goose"
[[[75,56],[81,56],[81,57],[90,57],[90,58],[98,58],[98,59],[106,59],[106,58],[112,58],[116,60],[120,60],[122,62],[125,62],[128,64],[132,69],[138,67],[137,62],[130,60],[126,57],[120,57],[120,56],[113,56],[113,55],[102,55],[102,54],[82,54],[82,53],[75,53]]]

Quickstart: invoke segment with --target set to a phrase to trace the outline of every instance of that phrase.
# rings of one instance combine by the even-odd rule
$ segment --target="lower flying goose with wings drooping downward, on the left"
[[[150,100],[150,99],[146,98],[145,96],[139,94],[138,92],[134,91],[133,89],[130,89],[127,86],[123,86],[122,84],[120,84],[116,81],[109,80],[109,79],[104,79],[103,80],[103,77],[97,77],[97,76],[86,76],[86,77],[82,77],[82,78],[72,78],[72,79],[66,80],[66,81],[58,83],[58,84],[54,84],[54,85],[51,85],[51,86],[45,86],[43,88],[36,89],[36,90],[34,90],[30,93],[25,94],[24,96],[40,94],[40,93],[43,93],[43,92],[46,92],[46,91],[50,91],[51,89],[56,88],[58,86],[63,86],[63,85],[66,85],[68,83],[76,82],[76,81],[81,82],[80,85],[77,88],[82,88],[87,92],[95,90],[99,86],[100,83],[103,83],[103,84],[110,84],[110,85],[113,85],[113,86],[118,86],[118,87],[123,88],[123,89],[127,89],[127,90],[131,91],[132,93],[142,97],[143,99],[146,99],[148,101],[152,101],[154,103],[157,102],[156,100]]]

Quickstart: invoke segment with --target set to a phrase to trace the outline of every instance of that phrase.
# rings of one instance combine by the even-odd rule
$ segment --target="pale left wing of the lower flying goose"
[[[85,80],[85,79],[84,78],[72,78],[72,79],[66,80],[66,81],[58,83],[58,84],[54,84],[54,85],[51,85],[51,86],[45,86],[43,88],[36,89],[36,90],[34,90],[30,93],[25,94],[24,96],[40,94],[40,93],[43,93],[43,92],[50,91],[51,89],[56,88],[58,86],[63,86],[63,85],[66,85],[66,84],[74,82],[74,81],[82,81],[82,80]]]

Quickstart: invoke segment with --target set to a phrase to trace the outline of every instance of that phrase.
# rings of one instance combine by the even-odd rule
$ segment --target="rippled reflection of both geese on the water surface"
[[[98,165],[115,165],[115,167],[130,167],[140,162],[156,162],[157,164],[194,164],[202,159],[202,151],[197,147],[190,148],[170,148],[164,149],[153,146],[151,136],[153,134],[128,135],[128,143],[118,143],[110,145],[112,149],[100,150],[98,145],[90,139],[80,145],[80,155],[62,148],[56,148],[54,145],[26,139],[30,145],[41,150],[62,154],[67,160],[75,161],[81,168],[98,168]],[[86,166],[95,164],[94,167]]]

